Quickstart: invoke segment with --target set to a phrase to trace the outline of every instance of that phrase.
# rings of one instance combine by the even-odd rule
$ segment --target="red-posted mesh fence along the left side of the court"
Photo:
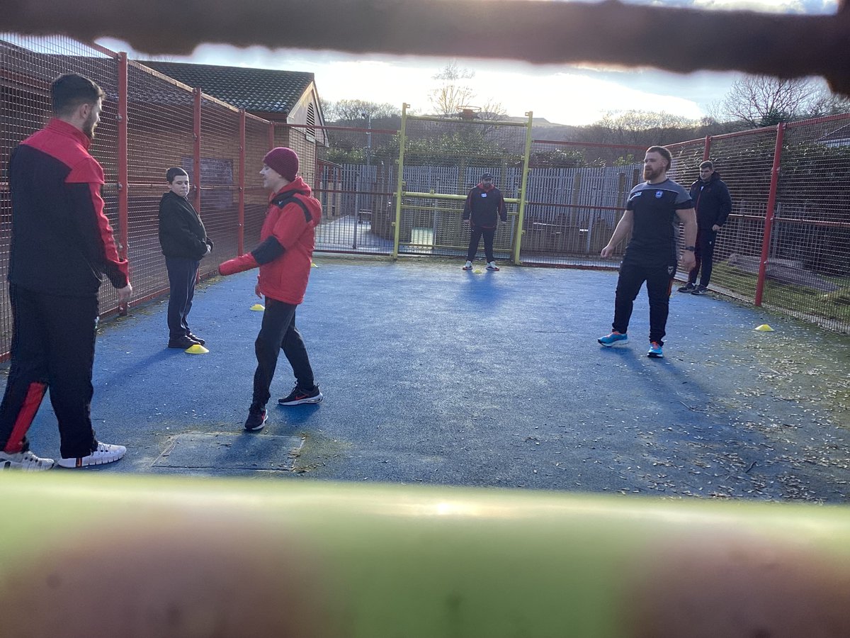
[[[215,242],[212,258],[201,261],[201,276],[214,274],[220,261],[258,243],[268,204],[259,170],[275,136],[297,138],[289,127],[275,131],[271,122],[123,54],[67,37],[0,34],[0,70],[0,356],[8,353],[12,328],[6,290],[11,202],[5,167],[15,145],[48,122],[50,84],[63,73],[90,77],[106,94],[90,151],[105,171],[105,214],[119,253],[130,262],[133,304],[168,290],[158,213],[169,167],[182,167],[190,175],[190,199]],[[315,151],[304,144],[297,150],[303,173],[311,174]],[[114,288],[102,286],[99,294],[102,314],[118,310]]]

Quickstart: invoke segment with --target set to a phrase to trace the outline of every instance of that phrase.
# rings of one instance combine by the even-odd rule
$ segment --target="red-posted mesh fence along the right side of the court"
[[[711,288],[850,331],[850,114],[668,148],[673,179],[711,159],[732,196]]]

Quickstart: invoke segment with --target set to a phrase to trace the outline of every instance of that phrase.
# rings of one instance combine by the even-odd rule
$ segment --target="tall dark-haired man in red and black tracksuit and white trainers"
[[[94,339],[102,277],[133,287],[104,214],[103,168],[88,154],[103,91],[71,73],[51,87],[54,118],[20,143],[9,161],[12,242],[9,298],[11,367],[0,406],[0,470],[48,470],[52,459],[29,450],[29,430],[46,390],[59,422],[62,467],[105,464],[127,449],[94,437]]]

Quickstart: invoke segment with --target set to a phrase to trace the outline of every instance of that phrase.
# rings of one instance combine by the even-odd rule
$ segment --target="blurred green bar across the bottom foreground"
[[[0,499],[3,638],[850,635],[846,507],[59,470]]]

